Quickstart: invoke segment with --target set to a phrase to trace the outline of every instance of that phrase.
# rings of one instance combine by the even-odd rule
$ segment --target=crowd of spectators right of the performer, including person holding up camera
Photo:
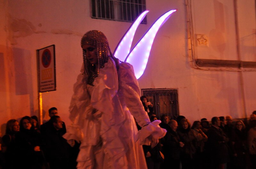
[[[141,101],[145,110],[150,105],[150,119],[157,120],[153,104],[145,96]],[[162,115],[161,121],[159,125],[167,133],[159,140],[157,150],[143,147],[149,169],[256,168],[256,111],[248,122],[245,119],[246,125],[231,116],[215,116],[210,121],[202,118],[192,126],[185,116],[170,119]]]

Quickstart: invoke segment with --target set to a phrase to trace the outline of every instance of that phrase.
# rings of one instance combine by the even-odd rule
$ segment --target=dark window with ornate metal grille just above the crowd
[[[171,119],[179,116],[178,89],[141,89],[142,95],[154,105],[157,118],[166,114]]]

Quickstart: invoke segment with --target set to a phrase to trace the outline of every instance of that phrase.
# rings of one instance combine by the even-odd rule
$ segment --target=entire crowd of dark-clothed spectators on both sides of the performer
[[[145,96],[141,102],[150,121],[157,120],[154,105]],[[62,137],[66,126],[57,108],[49,109],[49,116],[41,126],[36,116],[7,122],[1,139],[0,169],[76,168],[79,144],[71,147]],[[256,111],[245,124],[220,116],[194,121],[191,126],[185,116],[170,119],[162,115],[159,125],[167,130],[166,135],[155,147],[143,145],[148,169],[255,169]]]

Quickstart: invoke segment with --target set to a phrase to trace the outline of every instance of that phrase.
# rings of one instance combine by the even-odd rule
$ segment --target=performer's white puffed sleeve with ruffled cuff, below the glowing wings
[[[166,130],[160,128],[158,125],[160,120],[156,120],[150,123],[148,113],[144,110],[144,107],[140,101],[140,88],[138,81],[135,77],[134,70],[131,64],[122,62],[118,71],[119,77],[119,93],[122,94],[122,98],[125,101],[126,106],[135,117],[138,124],[142,129],[136,135],[135,140],[140,144],[155,146],[159,138],[164,137]]]

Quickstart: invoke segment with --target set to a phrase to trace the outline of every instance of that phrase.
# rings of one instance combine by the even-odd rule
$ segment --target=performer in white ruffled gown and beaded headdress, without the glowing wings
[[[77,168],[147,168],[141,144],[154,146],[166,130],[161,121],[150,123],[132,65],[113,56],[100,31],[85,33],[81,46],[84,64],[69,107],[73,124],[63,136],[81,142]]]

